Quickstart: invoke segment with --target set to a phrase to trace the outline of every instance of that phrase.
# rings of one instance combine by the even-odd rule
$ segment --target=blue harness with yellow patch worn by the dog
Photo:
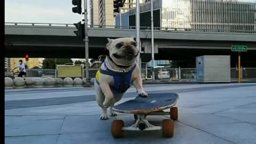
[[[106,67],[106,70],[100,69],[97,71],[96,74],[96,82],[100,85],[100,74],[110,75],[114,78],[114,85],[110,85],[110,89],[114,95],[124,93],[127,89],[131,86],[131,77],[132,72],[135,69],[136,65],[132,67],[130,71],[127,71],[125,73],[116,72],[113,70],[110,70],[107,67],[106,61],[104,62],[104,66]]]

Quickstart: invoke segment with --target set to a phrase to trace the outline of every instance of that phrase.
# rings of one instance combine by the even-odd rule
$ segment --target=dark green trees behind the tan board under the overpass
[[[71,59],[46,58],[43,60],[43,69],[55,69],[55,64],[64,65],[66,63],[73,63],[73,61]]]

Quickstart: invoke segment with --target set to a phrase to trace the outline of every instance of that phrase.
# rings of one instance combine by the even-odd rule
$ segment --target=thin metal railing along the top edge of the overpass
[[[49,26],[49,27],[74,27],[71,23],[30,23],[30,22],[5,22],[7,26]],[[232,23],[230,23],[232,25]],[[135,26],[102,26],[102,25],[88,25],[88,28],[107,28],[107,29],[135,29]],[[151,27],[140,27],[141,30],[148,29]],[[254,30],[233,30],[233,29],[199,29],[199,28],[182,28],[182,27],[154,27],[155,30],[159,31],[202,31],[202,32],[213,32],[213,33],[256,33],[256,26]]]

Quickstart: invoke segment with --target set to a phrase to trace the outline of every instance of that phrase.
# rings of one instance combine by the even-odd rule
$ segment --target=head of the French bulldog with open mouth
[[[108,38],[109,57],[119,66],[131,66],[135,62],[139,50],[133,38]]]

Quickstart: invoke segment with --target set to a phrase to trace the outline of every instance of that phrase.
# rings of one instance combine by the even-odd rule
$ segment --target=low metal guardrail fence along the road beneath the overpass
[[[94,78],[99,69],[89,69],[89,78]],[[147,70],[147,73],[146,73]],[[156,68],[155,79],[179,79],[179,80],[195,80],[196,68]],[[10,74],[9,74],[10,73]],[[9,71],[5,75],[12,75]],[[84,73],[85,75],[85,73]],[[150,79],[152,75],[151,69],[141,69],[141,77]],[[57,77],[55,69],[27,69],[26,77]],[[230,68],[230,78],[238,79],[238,68]],[[242,68],[243,79],[256,79],[256,68]]]

